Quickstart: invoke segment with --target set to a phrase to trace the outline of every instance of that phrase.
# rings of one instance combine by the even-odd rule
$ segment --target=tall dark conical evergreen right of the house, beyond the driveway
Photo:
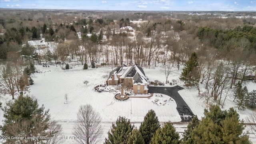
[[[187,86],[194,86],[196,78],[198,78],[198,76],[195,76],[195,74],[198,74],[195,72],[198,67],[197,60],[197,54],[196,52],[193,52],[188,62],[186,62],[183,72],[181,73],[180,80],[182,80]]]

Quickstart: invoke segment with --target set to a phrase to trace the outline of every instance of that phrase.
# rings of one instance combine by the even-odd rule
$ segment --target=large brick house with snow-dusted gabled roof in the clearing
[[[144,70],[138,64],[126,66],[123,64],[110,72],[108,77],[109,85],[122,84],[133,88],[135,94],[148,94],[148,80]]]

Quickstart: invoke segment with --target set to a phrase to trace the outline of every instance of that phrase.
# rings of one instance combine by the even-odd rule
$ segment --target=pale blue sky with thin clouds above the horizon
[[[256,11],[256,0],[0,0],[0,8]]]

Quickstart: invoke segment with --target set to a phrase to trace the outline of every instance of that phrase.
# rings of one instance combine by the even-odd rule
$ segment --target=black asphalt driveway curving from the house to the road
[[[178,93],[179,90],[184,88],[180,86],[174,87],[158,87],[158,86],[150,86],[148,87],[148,93],[160,93],[166,94],[173,98],[177,104],[177,111],[180,114],[181,122],[190,122],[194,116],[193,112],[190,110],[186,102]]]

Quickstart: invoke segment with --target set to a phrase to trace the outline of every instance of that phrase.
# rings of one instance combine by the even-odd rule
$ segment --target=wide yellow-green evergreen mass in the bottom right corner
[[[190,130],[184,144],[250,144],[248,135],[242,134],[244,123],[234,108],[222,111],[217,105],[211,106]]]

